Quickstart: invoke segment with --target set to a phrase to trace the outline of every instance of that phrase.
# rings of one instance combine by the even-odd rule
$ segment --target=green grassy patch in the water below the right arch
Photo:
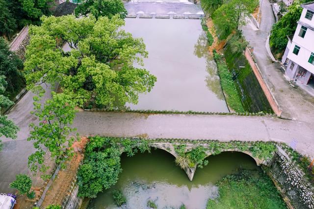
[[[272,181],[261,171],[243,170],[217,183],[219,197],[207,209],[286,209]]]

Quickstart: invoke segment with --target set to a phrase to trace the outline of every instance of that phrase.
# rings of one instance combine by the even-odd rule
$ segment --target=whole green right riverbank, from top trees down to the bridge
[[[247,42],[240,31],[240,26],[247,23],[247,18],[258,6],[258,0],[201,2],[214,23],[216,36],[221,43],[225,43],[222,51],[213,50],[213,54],[228,107],[235,112],[272,113],[267,98],[261,94],[262,88],[243,54]]]

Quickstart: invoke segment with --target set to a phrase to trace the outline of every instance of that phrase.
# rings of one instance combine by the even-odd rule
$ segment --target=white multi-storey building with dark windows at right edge
[[[303,8],[294,35],[288,36],[288,45],[282,61],[288,63],[286,75],[303,84],[314,82],[314,1]]]

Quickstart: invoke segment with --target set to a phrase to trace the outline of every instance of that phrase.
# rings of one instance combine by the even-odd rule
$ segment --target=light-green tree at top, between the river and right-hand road
[[[257,0],[230,0],[212,15],[219,39],[226,38],[233,30],[246,24],[246,18],[258,6]]]

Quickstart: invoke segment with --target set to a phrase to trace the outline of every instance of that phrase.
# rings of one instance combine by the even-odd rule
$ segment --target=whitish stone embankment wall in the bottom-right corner
[[[314,209],[314,188],[281,148],[267,168],[295,209]],[[289,204],[288,204],[289,205]],[[289,207],[290,208],[290,207]]]

